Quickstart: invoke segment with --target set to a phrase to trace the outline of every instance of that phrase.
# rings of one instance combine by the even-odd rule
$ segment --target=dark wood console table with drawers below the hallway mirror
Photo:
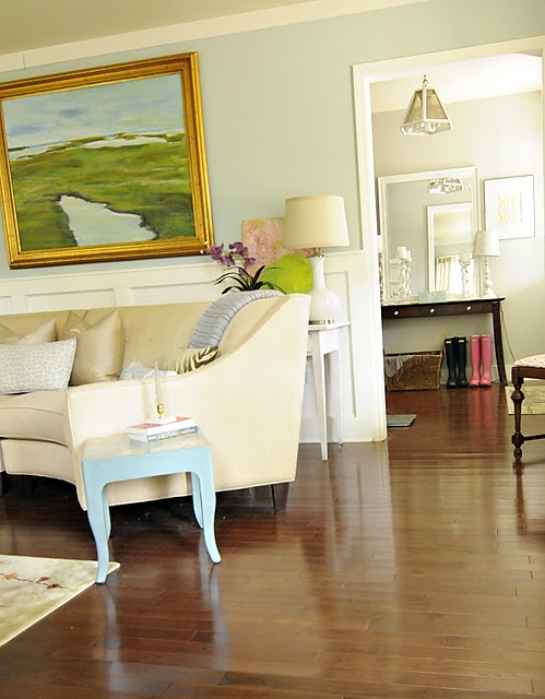
[[[441,301],[438,304],[392,304],[382,306],[382,320],[401,318],[437,318],[438,316],[473,316],[491,313],[494,346],[499,380],[507,386],[503,340],[501,337],[501,301],[505,298],[471,298],[467,300]]]

